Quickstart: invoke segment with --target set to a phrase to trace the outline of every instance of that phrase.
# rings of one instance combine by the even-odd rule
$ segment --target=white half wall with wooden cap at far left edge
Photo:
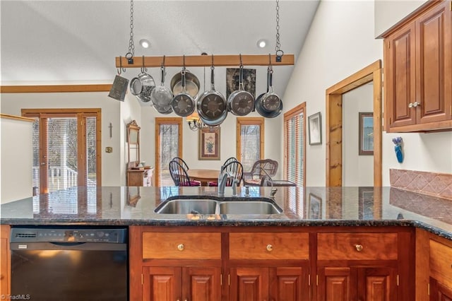
[[[1,203],[32,196],[32,122],[1,120]]]

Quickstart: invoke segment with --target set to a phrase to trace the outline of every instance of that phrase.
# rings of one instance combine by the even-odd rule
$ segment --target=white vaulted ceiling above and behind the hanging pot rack
[[[318,5],[280,0],[281,49],[295,54],[295,61]],[[133,6],[136,57],[275,53],[275,1],[136,0]],[[1,83],[112,83],[114,58],[129,48],[130,8],[124,0],[1,0]],[[142,38],[150,48],[139,45]],[[268,40],[264,49],[256,47],[261,38]],[[284,92],[292,69],[275,70],[275,92]],[[122,76],[131,79],[139,71],[127,69]],[[258,76],[265,71],[258,67]],[[167,70],[167,76],[174,72]],[[196,72],[199,77],[202,71]],[[160,82],[159,69],[149,73]]]

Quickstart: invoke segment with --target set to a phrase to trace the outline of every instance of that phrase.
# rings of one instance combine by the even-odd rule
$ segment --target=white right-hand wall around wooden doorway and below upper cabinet
[[[285,110],[305,101],[307,116],[319,111],[322,114],[323,143],[307,145],[307,186],[324,186],[326,181],[326,89],[377,59],[383,59],[383,41],[375,40],[374,33],[373,1],[321,1],[283,96]],[[397,162],[393,151],[395,136],[403,137],[405,160],[402,164]],[[452,132],[383,133],[382,139],[383,186],[390,184],[390,168],[452,172]],[[282,138],[280,143],[283,145]]]

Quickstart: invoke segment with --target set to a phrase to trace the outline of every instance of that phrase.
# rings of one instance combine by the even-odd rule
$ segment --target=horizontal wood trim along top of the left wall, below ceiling
[[[100,85],[0,85],[0,93],[109,92],[111,83]]]

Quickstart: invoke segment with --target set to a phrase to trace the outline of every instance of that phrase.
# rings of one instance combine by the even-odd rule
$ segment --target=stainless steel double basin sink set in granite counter
[[[160,214],[280,214],[283,209],[273,199],[213,196],[176,196],[168,198],[155,208]]]

